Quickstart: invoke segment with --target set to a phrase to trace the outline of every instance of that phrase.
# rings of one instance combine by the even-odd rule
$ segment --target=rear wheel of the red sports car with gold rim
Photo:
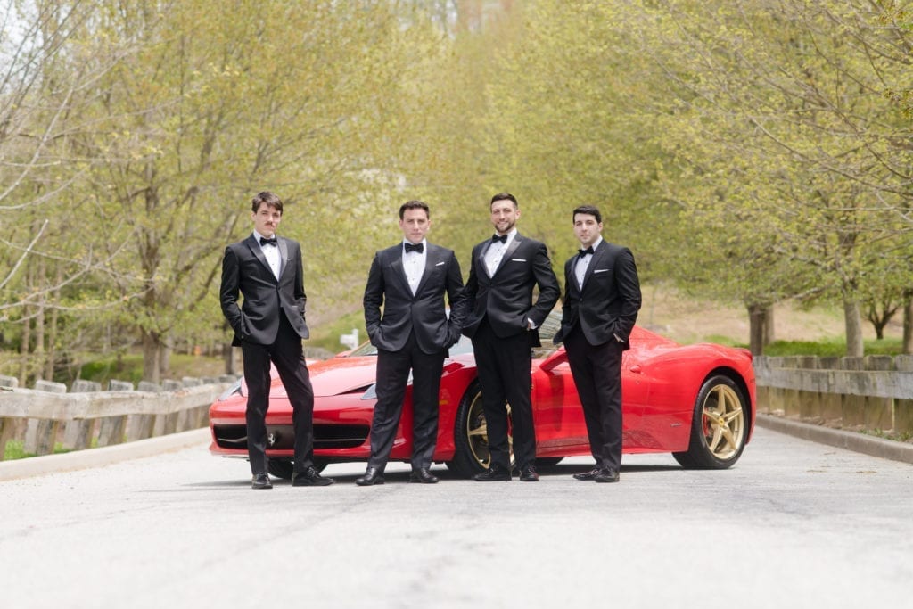
[[[726,469],[741,457],[748,438],[748,400],[728,376],[701,386],[694,404],[687,451],[672,453],[682,467]]]

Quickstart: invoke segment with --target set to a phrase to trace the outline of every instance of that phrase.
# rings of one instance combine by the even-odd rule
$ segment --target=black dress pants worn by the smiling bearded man
[[[517,467],[536,461],[536,428],[533,425],[530,391],[532,389],[532,352],[530,333],[521,331],[498,338],[488,319],[483,319],[472,337],[478,382],[482,387],[482,409],[488,428],[490,467],[509,469],[510,446],[507,406],[513,422],[513,451]]]

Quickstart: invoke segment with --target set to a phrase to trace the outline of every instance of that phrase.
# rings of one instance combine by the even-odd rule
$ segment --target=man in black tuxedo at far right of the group
[[[640,310],[640,280],[627,247],[603,240],[593,205],[573,210],[580,252],[564,265],[564,306],[555,343],[564,341],[596,465],[578,480],[617,482],[622,461],[622,352]]]

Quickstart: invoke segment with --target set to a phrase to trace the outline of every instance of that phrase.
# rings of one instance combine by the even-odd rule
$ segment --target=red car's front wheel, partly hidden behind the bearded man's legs
[[[508,441],[512,446],[512,436],[508,436]],[[447,461],[446,466],[458,476],[471,478],[488,469],[491,464],[485,413],[482,410],[482,391],[477,380],[469,383],[466,394],[463,394],[456,408],[454,446],[454,458]],[[513,465],[511,451],[510,467]]]

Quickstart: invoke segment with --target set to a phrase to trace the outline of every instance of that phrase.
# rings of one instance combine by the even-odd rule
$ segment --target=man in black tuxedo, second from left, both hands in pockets
[[[400,206],[402,243],[374,256],[364,289],[364,324],[377,347],[377,404],[371,425],[371,458],[361,487],[383,484],[403,413],[412,371],[412,475],[410,482],[434,484],[431,457],[437,440],[438,391],[447,350],[463,323],[463,277],[453,250],[427,242],[428,205]],[[444,296],[450,302],[447,319]],[[383,316],[381,306],[383,305]]]

